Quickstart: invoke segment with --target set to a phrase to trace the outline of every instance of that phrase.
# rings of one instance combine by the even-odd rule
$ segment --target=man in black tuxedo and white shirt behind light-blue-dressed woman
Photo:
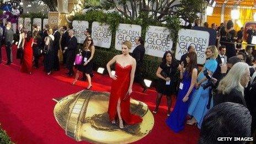
[[[218,62],[217,69],[212,75],[212,77],[216,78],[217,80],[220,80],[221,76],[221,67],[220,65],[227,63],[227,56],[226,56],[226,46],[222,45],[218,47],[219,55],[216,58],[216,61]]]

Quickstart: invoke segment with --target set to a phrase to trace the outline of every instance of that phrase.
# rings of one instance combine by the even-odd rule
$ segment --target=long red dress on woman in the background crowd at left
[[[33,38],[29,41],[25,40],[24,44],[24,56],[22,63],[22,72],[29,73],[32,70],[32,61],[33,61],[33,50],[32,50]]]

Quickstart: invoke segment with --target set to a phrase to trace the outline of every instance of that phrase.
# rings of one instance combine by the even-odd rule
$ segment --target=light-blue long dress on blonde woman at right
[[[201,81],[201,79],[205,78],[204,76],[204,70],[207,68],[207,70],[211,71],[211,73],[214,73],[217,68],[217,61],[215,59],[210,59],[205,62],[205,66],[202,68],[202,71],[198,74],[198,78],[196,79],[197,82]],[[202,84],[207,83],[207,80],[201,83],[201,86],[198,90],[195,90],[194,95],[191,99],[191,103],[189,105],[188,114],[193,116],[196,121],[198,122],[198,127],[201,129],[202,120],[204,119],[204,116],[209,111],[209,109],[206,108],[206,105],[209,101],[209,95],[210,95],[210,88],[203,89]],[[213,106],[211,98],[211,105],[210,109]]]

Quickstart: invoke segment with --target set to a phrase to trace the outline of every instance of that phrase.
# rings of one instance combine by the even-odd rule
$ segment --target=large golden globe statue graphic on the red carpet
[[[154,118],[145,103],[131,99],[130,111],[143,119],[137,125],[111,124],[108,115],[109,93],[82,90],[56,99],[54,116],[66,135],[76,141],[92,143],[131,143],[145,137]]]

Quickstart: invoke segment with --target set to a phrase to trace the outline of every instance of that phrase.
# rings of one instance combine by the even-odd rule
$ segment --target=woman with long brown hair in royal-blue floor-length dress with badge
[[[190,99],[194,93],[194,85],[196,83],[196,77],[198,76],[198,70],[196,69],[196,53],[190,52],[186,57],[186,62],[188,63],[186,68],[184,68],[183,62],[180,67],[180,79],[182,79],[182,82],[180,82],[176,105],[172,114],[170,114],[166,120],[167,125],[174,132],[179,132],[184,129]]]

